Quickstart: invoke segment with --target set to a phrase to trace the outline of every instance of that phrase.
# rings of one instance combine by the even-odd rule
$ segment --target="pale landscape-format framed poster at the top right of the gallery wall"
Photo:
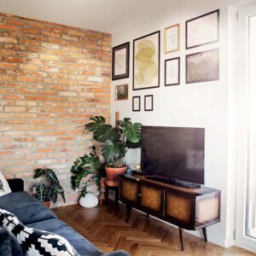
[[[219,9],[186,21],[186,49],[218,42]]]

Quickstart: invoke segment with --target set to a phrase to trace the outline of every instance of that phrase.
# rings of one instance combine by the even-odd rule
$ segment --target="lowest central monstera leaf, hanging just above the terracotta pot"
[[[125,146],[120,140],[108,140],[102,144],[102,156],[106,163],[113,163],[125,156]]]

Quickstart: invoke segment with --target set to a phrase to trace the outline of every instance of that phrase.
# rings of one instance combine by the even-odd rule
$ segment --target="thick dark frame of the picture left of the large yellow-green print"
[[[118,75],[115,75],[115,60],[116,60],[116,52],[125,49],[125,62],[122,63],[122,65],[125,65],[125,73],[121,73]],[[130,66],[130,42],[127,42],[125,44],[120,44],[118,46],[113,47],[112,49],[112,80],[118,80],[118,79],[126,79],[129,78],[129,66]]]

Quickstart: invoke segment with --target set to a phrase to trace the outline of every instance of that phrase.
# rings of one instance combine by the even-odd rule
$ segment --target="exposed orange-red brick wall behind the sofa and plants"
[[[67,204],[73,161],[93,143],[84,124],[110,115],[111,35],[0,14],[0,170],[25,179],[49,167]]]

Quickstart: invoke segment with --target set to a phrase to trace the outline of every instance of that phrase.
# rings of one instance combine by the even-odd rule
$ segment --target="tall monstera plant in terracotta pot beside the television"
[[[84,126],[93,133],[93,138],[101,144],[102,157],[107,173],[107,184],[118,186],[119,175],[125,173],[123,158],[128,148],[139,148],[141,144],[141,123],[131,123],[130,118],[106,124],[102,116],[90,118],[92,122]]]

